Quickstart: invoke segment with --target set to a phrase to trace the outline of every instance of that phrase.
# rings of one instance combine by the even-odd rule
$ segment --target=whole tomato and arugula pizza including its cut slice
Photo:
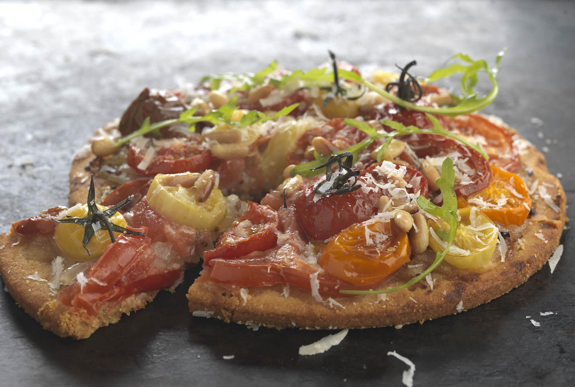
[[[489,69],[458,55],[425,82],[415,61],[364,78],[330,57],[145,88],[76,153],[70,208],[2,235],[14,299],[85,338],[202,258],[194,316],[381,327],[476,307],[545,264],[565,193],[534,146],[477,113],[500,56]],[[430,83],[458,72],[461,96]],[[493,84],[482,98],[480,72]]]

